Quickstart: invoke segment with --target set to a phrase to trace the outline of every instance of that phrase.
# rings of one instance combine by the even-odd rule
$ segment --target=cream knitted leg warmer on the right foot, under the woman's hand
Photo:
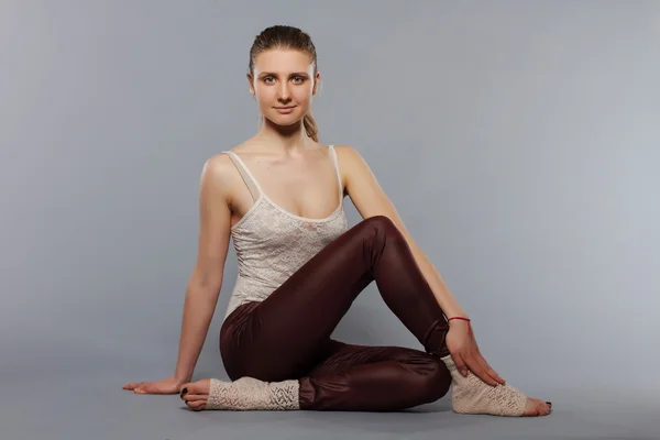
[[[451,374],[451,404],[455,413],[514,417],[522,415],[527,397],[518,389],[508,385],[493,387],[472,372],[464,377],[451,355],[441,360]]]

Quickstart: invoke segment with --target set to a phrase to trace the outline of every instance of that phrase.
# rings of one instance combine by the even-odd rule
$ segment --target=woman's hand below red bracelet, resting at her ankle
[[[470,369],[475,376],[488,385],[505,384],[505,381],[488,365],[479,351],[470,322],[459,319],[451,320],[446,342],[452,360],[463,376],[468,375],[468,369]]]

